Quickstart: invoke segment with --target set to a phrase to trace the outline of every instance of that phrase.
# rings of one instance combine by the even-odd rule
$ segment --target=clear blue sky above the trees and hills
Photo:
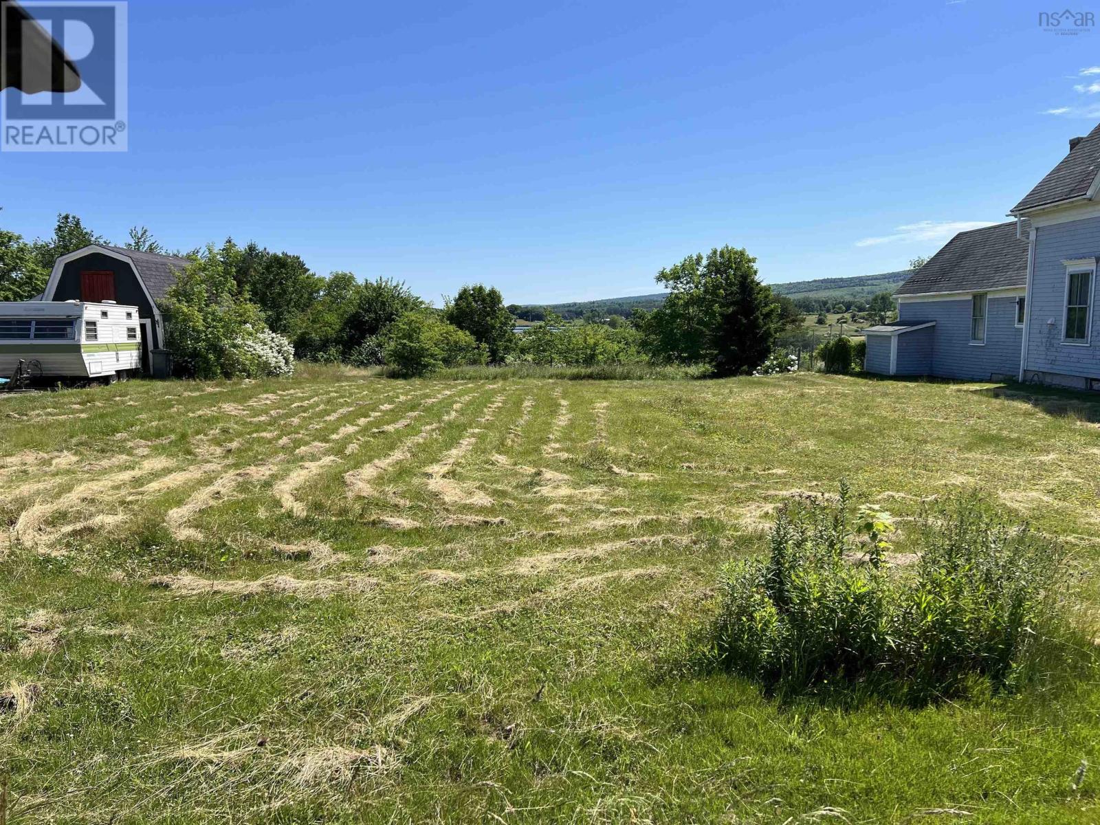
[[[1100,122],[1100,28],[1038,12],[134,0],[129,153],[0,155],[0,226],[231,234],[437,302],[654,292],[725,243],[770,283],[904,268]]]

